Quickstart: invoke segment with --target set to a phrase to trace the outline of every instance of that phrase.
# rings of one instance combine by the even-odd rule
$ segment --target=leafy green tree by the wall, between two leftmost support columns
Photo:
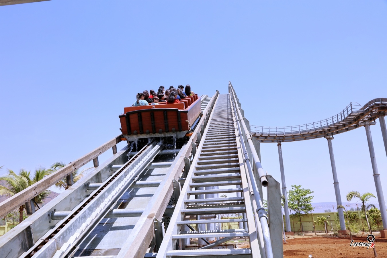
[[[295,216],[300,219],[301,231],[303,231],[301,215],[307,214],[313,210],[312,202],[313,193],[310,189],[301,188],[301,185],[292,185],[292,189],[288,192],[288,205],[295,212]]]

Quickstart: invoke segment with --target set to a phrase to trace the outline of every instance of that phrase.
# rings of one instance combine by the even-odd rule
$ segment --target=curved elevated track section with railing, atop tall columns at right
[[[373,123],[387,113],[387,99],[378,98],[364,106],[351,102],[340,113],[313,123],[295,126],[250,125],[250,132],[259,142],[293,142],[347,132]]]

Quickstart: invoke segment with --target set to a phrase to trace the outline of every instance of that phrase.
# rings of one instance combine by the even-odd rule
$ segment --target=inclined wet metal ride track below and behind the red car
[[[176,180],[187,168],[187,158],[192,158],[195,154],[195,142],[211,114],[218,94],[219,92],[216,92],[212,98],[207,95],[201,97],[203,115],[200,116],[194,135],[181,149],[175,151],[163,149],[161,142],[153,140],[153,142],[148,141],[147,144],[144,142],[142,145],[144,147],[139,146],[139,150],[136,152],[132,152],[134,142],[117,152],[116,143],[121,141],[121,137],[118,136],[51,174],[47,177],[50,183],[47,183],[46,180],[43,183],[39,181],[33,185],[34,191],[38,191],[37,189],[44,191],[51,183],[55,183],[54,180],[65,177],[68,171],[72,171],[74,167],[94,160],[95,168],[93,171],[80,179],[77,184],[71,185],[57,198],[40,207],[34,214],[0,238],[0,257],[62,258],[78,254],[85,256],[88,252],[98,253],[100,251],[120,255],[121,248],[127,244],[122,240],[136,237],[131,236],[131,233],[146,235],[141,246],[134,251],[135,254],[139,255],[138,257],[144,257],[149,246],[152,246],[154,231],[144,234],[149,229],[142,224],[144,222],[142,218],[145,217],[147,221],[150,214],[154,215],[150,218],[153,229],[154,219],[161,220],[163,217],[168,217],[168,214],[172,214],[174,203],[169,205],[169,202],[173,200],[172,196],[177,195],[177,199],[178,193],[180,193],[180,191],[176,191],[177,189],[175,190],[175,188],[180,187]],[[99,165],[98,155],[111,147],[114,155]],[[173,162],[153,161],[156,157],[165,161],[166,159],[163,157],[171,154],[175,155]],[[31,194],[28,194],[28,191],[26,193],[27,197],[21,196],[21,198],[28,200],[31,198]],[[126,198],[126,193],[134,196]],[[141,207],[128,206],[128,203],[135,198],[137,200],[133,203],[137,203]],[[18,199],[13,198],[13,200]],[[7,201],[5,204],[5,207],[14,205]],[[17,204],[19,205],[19,203]],[[2,212],[6,209],[3,206],[1,208]],[[120,223],[114,225],[114,222],[105,223],[106,220],[120,220],[128,217],[130,221],[120,222],[122,225],[118,225]],[[104,227],[102,231],[99,231],[101,225]],[[93,240],[92,234],[100,238]],[[113,236],[114,234],[115,236]],[[113,243],[118,247],[110,248],[111,239],[118,240],[118,243]],[[98,246],[98,244],[101,245]],[[125,250],[123,249],[123,251]]]

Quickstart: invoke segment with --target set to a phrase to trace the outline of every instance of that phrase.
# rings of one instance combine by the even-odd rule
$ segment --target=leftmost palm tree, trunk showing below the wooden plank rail
[[[39,167],[35,169],[34,176],[31,178],[31,171],[21,169],[19,173],[8,169],[7,176],[0,177],[0,181],[3,180],[8,186],[0,185],[0,195],[13,196],[34,183],[43,179],[49,173],[46,169]],[[44,199],[50,194],[50,191],[43,191],[39,195],[35,196],[33,200],[36,203],[43,203]],[[23,221],[24,204],[19,207],[19,223]]]

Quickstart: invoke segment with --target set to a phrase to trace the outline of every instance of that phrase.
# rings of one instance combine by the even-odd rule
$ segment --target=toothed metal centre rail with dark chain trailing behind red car
[[[57,211],[51,212],[52,220],[61,219],[57,226],[39,239],[35,247],[21,257],[63,257],[74,248],[74,243],[82,238],[94,225],[104,210],[127,188],[131,179],[137,176],[149,160],[159,151],[159,145],[149,144],[140,150],[126,164],[120,167],[109,180],[95,184],[97,188],[77,208],[58,216]],[[60,212],[62,215],[63,212]],[[57,251],[58,250],[58,251]]]

